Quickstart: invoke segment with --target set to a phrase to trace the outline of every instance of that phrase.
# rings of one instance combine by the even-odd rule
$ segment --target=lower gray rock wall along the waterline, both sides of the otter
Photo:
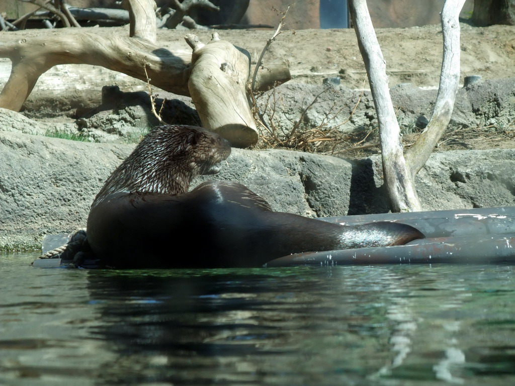
[[[0,250],[37,249],[45,234],[85,226],[97,191],[133,148],[0,131]],[[515,205],[513,160],[515,150],[433,154],[417,179],[424,208]],[[339,216],[387,212],[381,173],[379,157],[233,149],[216,179],[247,185],[274,210]]]

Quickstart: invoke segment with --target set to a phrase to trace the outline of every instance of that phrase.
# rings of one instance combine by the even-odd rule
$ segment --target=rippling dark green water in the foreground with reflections
[[[0,255],[1,385],[515,383],[512,266],[37,269]]]

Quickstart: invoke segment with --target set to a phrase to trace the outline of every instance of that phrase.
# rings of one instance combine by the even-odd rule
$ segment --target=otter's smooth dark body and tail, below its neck
[[[296,252],[404,244],[409,225],[344,226],[272,212],[245,186],[207,182],[178,196],[111,194],[88,219],[88,241],[116,268],[261,267]]]

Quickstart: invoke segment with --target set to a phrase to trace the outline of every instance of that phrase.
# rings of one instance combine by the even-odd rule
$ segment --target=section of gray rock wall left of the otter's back
[[[0,249],[85,226],[102,182],[133,145],[0,132]]]

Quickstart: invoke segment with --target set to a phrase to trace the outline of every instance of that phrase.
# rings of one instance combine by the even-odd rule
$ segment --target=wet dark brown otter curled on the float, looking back
[[[218,134],[159,126],[111,174],[93,201],[91,250],[114,268],[261,267],[291,253],[404,244],[423,235],[409,225],[333,224],[270,205],[234,182],[204,182],[231,152]]]

